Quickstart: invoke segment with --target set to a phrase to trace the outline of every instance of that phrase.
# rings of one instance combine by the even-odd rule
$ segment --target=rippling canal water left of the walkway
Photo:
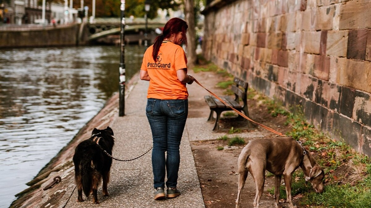
[[[126,46],[127,80],[144,47]],[[118,91],[120,48],[0,50],[0,208]]]

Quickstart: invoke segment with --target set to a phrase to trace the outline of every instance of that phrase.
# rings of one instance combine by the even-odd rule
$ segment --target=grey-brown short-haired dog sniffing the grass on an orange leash
[[[262,197],[265,170],[275,175],[275,208],[279,207],[279,187],[281,177],[286,184],[287,202],[290,208],[294,208],[291,201],[292,173],[301,167],[305,180],[311,182],[317,193],[324,190],[323,179],[325,173],[312,155],[306,151],[301,142],[291,137],[263,138],[250,141],[238,158],[238,194],[236,208],[240,208],[240,199],[247,173],[250,172],[256,187],[254,208],[259,207],[259,199]]]

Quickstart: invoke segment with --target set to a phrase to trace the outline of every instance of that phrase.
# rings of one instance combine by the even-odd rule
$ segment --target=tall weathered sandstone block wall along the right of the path
[[[203,55],[371,156],[371,1],[212,1]]]

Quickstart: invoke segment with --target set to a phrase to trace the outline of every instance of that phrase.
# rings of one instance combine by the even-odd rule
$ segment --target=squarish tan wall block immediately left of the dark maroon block
[[[371,39],[371,38],[370,38]],[[371,45],[370,45],[371,46]],[[330,30],[327,32],[326,54],[329,56],[347,56],[348,31]]]

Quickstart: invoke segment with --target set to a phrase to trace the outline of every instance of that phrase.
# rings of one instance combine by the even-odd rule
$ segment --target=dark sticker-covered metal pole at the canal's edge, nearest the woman
[[[125,115],[125,0],[121,0],[119,116]]]

